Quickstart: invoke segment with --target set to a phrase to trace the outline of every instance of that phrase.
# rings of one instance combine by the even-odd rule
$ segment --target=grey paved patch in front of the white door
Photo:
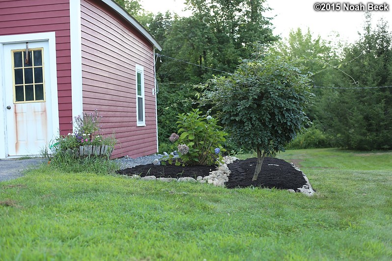
[[[43,161],[45,161],[43,158],[1,159],[0,182],[22,177],[24,170],[37,166]]]

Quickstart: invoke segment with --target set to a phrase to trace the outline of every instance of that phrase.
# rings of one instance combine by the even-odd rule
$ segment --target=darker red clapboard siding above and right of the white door
[[[72,131],[69,0],[0,0],[0,35],[56,32],[60,133]]]

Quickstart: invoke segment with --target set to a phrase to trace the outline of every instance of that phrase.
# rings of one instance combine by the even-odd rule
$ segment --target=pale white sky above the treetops
[[[312,35],[320,35],[325,40],[340,40],[342,42],[353,43],[358,40],[358,31],[362,31],[364,25],[364,12],[355,10],[344,10],[343,8],[364,8],[367,10],[368,4],[383,5],[388,7],[388,11],[371,11],[372,24],[375,26],[377,21],[383,17],[389,23],[389,30],[392,31],[392,0],[382,1],[357,1],[349,0],[342,2],[329,2],[330,4],[340,5],[337,11],[315,11],[316,3],[326,3],[318,0],[266,0],[266,3],[273,8],[272,11],[266,13],[267,17],[274,17],[272,24],[275,27],[274,33],[282,38],[288,37],[291,29],[300,27],[303,31],[308,27]],[[147,11],[152,13],[167,10],[176,12],[179,15],[187,16],[188,12],[184,12],[184,0],[140,0],[141,5]],[[344,3],[347,3],[344,5]],[[361,7],[362,4],[364,7]],[[357,5],[357,6],[356,6]],[[327,6],[324,6],[327,7]],[[332,9],[332,7],[330,7]],[[339,38],[336,38],[336,33]]]

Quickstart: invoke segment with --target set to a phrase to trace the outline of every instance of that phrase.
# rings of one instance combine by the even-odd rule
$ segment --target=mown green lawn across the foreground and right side
[[[392,152],[279,157],[316,196],[42,166],[0,183],[0,260],[392,259]]]

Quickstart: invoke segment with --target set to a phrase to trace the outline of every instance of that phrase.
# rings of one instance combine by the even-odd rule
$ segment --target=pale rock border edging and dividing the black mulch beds
[[[235,160],[239,158],[232,156],[223,157],[224,163],[220,163],[216,170],[210,172],[209,176],[201,177],[198,176],[196,179],[192,177],[181,177],[181,178],[157,178],[155,176],[145,176],[140,177],[139,175],[132,175],[132,179],[138,179],[142,181],[161,181],[161,182],[193,182],[193,183],[207,183],[213,184],[214,186],[224,187],[224,183],[228,182],[228,176],[230,176],[231,171],[227,167],[228,164],[233,163]],[[301,193],[304,193],[307,196],[312,196],[316,192],[313,190],[312,186],[309,183],[308,177],[302,172],[298,167],[296,167],[293,163],[290,164],[298,171],[302,173],[306,180],[306,185],[297,188]],[[126,176],[126,175],[124,175]],[[129,177],[129,176],[127,176]],[[295,192],[294,189],[288,189],[289,192]]]

